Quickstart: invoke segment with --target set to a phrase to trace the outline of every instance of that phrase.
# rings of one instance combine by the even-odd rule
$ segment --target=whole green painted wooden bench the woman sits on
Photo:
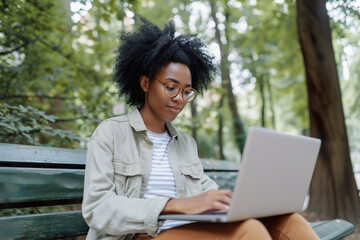
[[[42,210],[81,203],[85,158],[84,150],[0,143],[0,238],[59,239],[86,234],[81,211]],[[202,163],[221,188],[233,188],[239,163],[206,159]],[[9,209],[29,207],[40,212],[7,216]],[[324,240],[341,239],[354,231],[351,223],[340,219],[310,224]]]

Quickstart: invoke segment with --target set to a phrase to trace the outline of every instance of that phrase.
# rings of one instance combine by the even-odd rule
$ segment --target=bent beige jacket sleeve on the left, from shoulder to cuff
[[[102,126],[100,137],[93,135],[89,142],[82,213],[86,223],[95,231],[109,235],[147,233],[158,230],[158,216],[168,198],[127,198],[115,192],[115,173],[112,163],[111,126]],[[106,135],[106,138],[101,137]],[[104,140],[109,138],[110,140]]]

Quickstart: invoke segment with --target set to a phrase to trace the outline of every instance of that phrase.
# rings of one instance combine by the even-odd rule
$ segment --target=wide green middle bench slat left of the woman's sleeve
[[[83,188],[84,170],[80,169],[0,168],[0,208],[20,206],[17,203],[79,203]]]

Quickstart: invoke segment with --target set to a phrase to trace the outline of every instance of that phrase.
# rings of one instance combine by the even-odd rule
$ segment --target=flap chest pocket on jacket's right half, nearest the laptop
[[[198,164],[180,166],[180,172],[185,177],[185,192],[187,197],[202,193],[202,168]]]

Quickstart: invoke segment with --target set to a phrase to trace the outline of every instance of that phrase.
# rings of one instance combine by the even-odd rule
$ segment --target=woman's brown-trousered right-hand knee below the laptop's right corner
[[[273,239],[319,239],[305,218],[298,213],[262,218],[260,221]]]

